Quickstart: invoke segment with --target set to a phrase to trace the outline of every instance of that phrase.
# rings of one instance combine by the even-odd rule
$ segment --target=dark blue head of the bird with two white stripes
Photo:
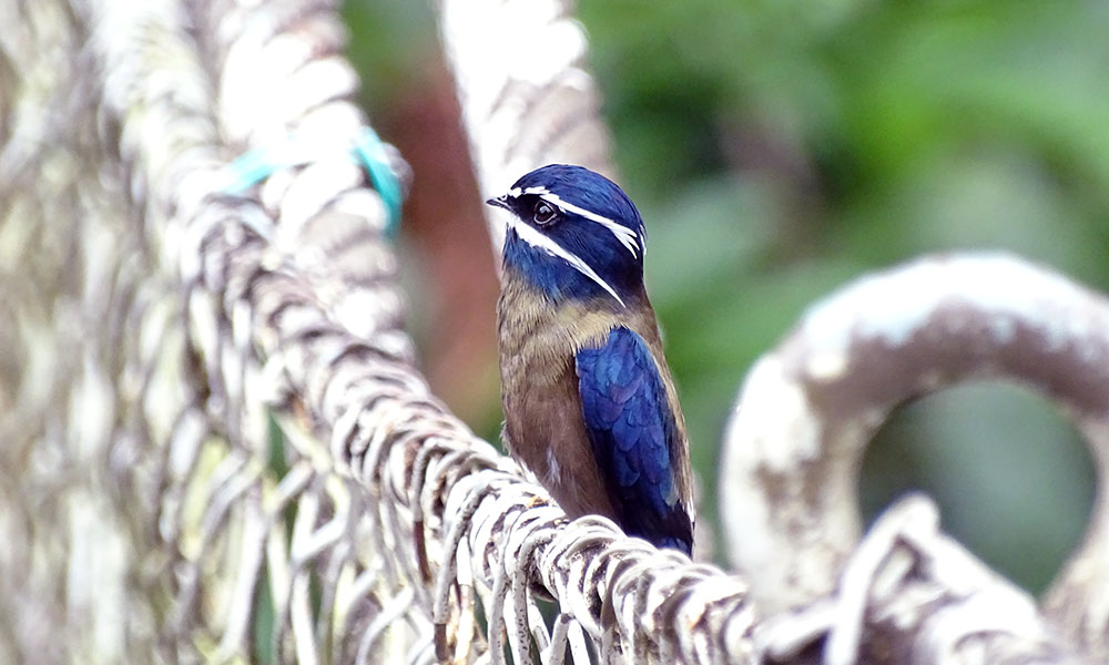
[[[615,183],[582,166],[551,164],[486,203],[512,213],[505,269],[553,301],[627,306],[643,287],[647,228]]]

